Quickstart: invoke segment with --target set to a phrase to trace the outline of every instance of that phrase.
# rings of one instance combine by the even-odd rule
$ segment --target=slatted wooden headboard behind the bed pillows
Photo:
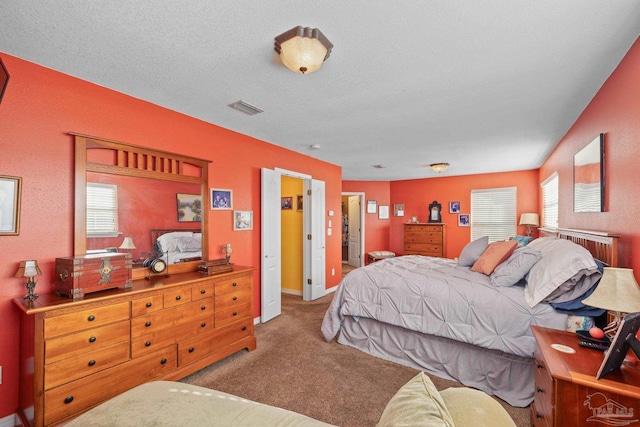
[[[607,267],[618,266],[619,234],[604,231],[572,230],[569,228],[540,229],[540,237],[567,239],[587,249],[594,258]]]

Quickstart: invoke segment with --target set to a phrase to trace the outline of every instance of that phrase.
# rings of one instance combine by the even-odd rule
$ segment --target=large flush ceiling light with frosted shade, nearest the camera
[[[333,45],[317,28],[297,26],[276,37],[282,63],[298,74],[313,73],[329,57]]]

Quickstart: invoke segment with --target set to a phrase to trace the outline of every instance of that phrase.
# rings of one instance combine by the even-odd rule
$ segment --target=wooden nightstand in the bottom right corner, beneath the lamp
[[[536,339],[532,426],[640,425],[640,370],[623,365],[596,380],[602,351],[580,347],[575,333],[531,329]],[[558,351],[552,344],[575,353]]]

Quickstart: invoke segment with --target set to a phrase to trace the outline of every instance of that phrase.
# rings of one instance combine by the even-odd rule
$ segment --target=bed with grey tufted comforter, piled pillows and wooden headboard
[[[475,267],[489,247],[513,244],[476,241],[459,260],[408,255],[356,269],[340,282],[322,333],[525,407],[534,390],[530,327],[591,326],[603,312],[579,301],[604,266],[617,266],[617,235],[559,229],[541,236],[502,253],[493,269]],[[471,267],[462,262],[470,253]],[[567,308],[576,302],[580,309]]]

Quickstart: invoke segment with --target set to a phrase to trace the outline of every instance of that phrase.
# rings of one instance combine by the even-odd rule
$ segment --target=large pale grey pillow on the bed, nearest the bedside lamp
[[[535,239],[527,247],[542,253],[526,276],[524,297],[529,307],[542,301],[571,300],[584,294],[601,276],[589,251],[570,240]]]

